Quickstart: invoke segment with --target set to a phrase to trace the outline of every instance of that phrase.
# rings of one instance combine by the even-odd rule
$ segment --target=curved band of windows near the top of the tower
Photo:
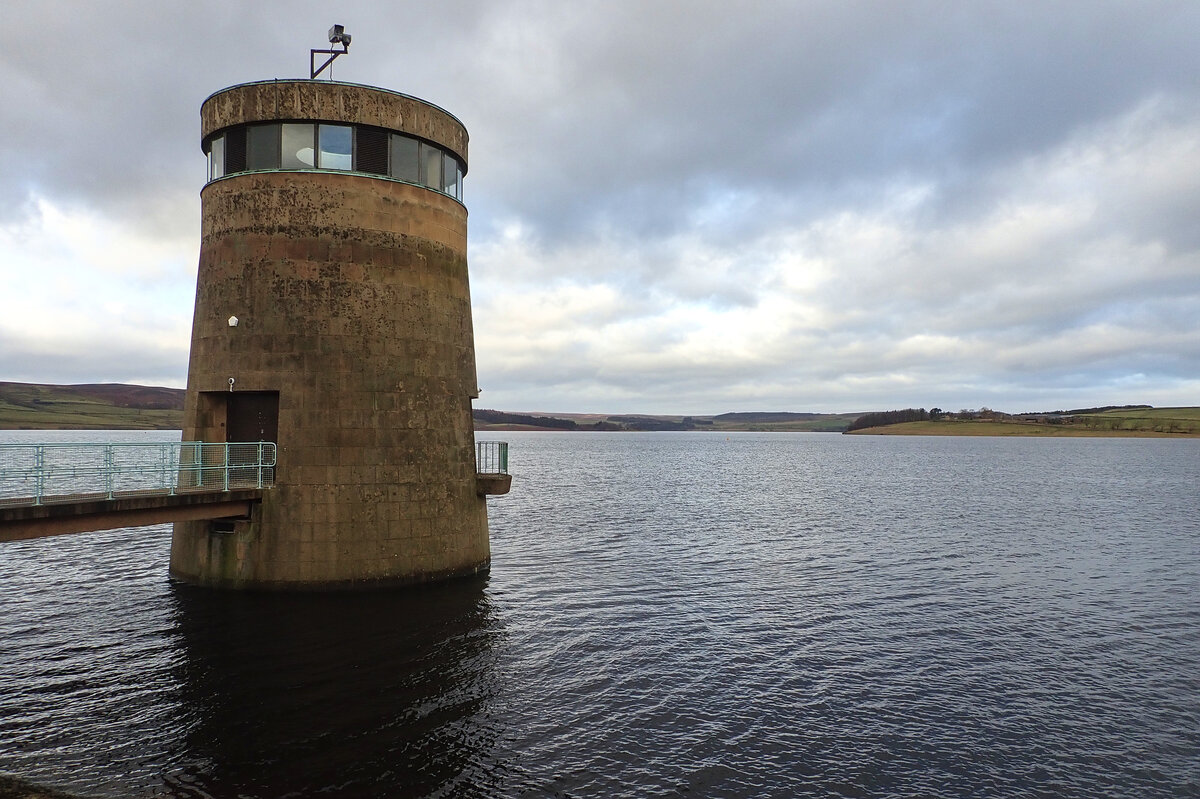
[[[208,142],[209,180],[257,169],[330,169],[386,175],[462,202],[462,162],[442,148],[383,128],[269,122]]]

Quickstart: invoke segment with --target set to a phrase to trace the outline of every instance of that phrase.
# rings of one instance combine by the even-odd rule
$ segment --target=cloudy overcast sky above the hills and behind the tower
[[[470,133],[476,407],[1200,404],[1200,2],[38,2],[0,47],[0,380],[186,383],[199,106]]]

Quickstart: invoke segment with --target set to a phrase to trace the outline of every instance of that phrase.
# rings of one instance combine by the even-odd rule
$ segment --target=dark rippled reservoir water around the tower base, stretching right
[[[488,578],[0,546],[0,771],[97,797],[1200,797],[1200,441],[508,434]]]

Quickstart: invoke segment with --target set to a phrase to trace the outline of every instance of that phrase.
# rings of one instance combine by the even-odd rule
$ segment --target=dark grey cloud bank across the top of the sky
[[[140,215],[198,190],[211,91],[302,73],[319,4],[48,2],[0,50],[8,208],[30,188]],[[1138,102],[1190,92],[1187,4],[449,4],[364,6],[340,77],[431,96],[475,133],[481,208],[545,230],[689,223],[728,188],[803,212],[895,175],[1036,151]],[[341,12],[335,12],[341,13]],[[131,24],[132,23],[132,24]],[[380,41],[382,40],[382,41]],[[392,79],[394,77],[394,79]],[[494,198],[494,199],[493,199]]]

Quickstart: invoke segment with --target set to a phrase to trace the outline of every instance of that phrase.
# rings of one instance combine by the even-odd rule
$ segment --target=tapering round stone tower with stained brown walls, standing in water
[[[232,86],[200,120],[184,440],[274,440],[278,455],[250,519],[175,524],[172,573],[340,588],[486,570],[466,128],[324,80]]]

